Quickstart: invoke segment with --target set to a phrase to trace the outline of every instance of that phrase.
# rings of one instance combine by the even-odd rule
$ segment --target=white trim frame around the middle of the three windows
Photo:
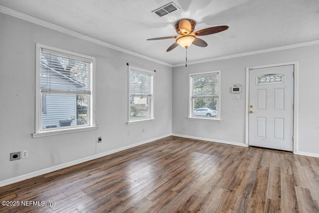
[[[137,70],[141,73],[145,73],[147,75],[152,75],[152,99],[151,99],[151,109],[150,109],[150,116],[149,118],[146,118],[146,119],[139,119],[139,120],[134,120],[134,121],[130,121],[130,114],[131,114],[131,111],[130,111],[130,94],[131,94],[131,71],[133,70]],[[150,70],[147,70],[147,69],[142,69],[142,68],[138,68],[138,67],[134,67],[134,66],[130,66],[129,65],[129,72],[128,72],[128,122],[127,122],[127,125],[131,125],[131,124],[137,124],[137,123],[145,123],[145,122],[150,122],[150,121],[155,121],[155,107],[154,107],[154,103],[155,103],[155,95],[154,95],[154,82],[155,82],[155,72],[152,72]]]

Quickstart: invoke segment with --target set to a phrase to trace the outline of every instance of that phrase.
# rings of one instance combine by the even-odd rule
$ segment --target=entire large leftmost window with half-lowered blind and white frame
[[[95,59],[42,44],[36,46],[36,131],[33,136],[93,127]]]

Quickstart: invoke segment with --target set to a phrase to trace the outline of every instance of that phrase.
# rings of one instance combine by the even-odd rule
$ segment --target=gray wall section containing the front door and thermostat
[[[319,45],[173,68],[172,133],[241,145],[245,143],[246,67],[299,61],[297,152],[319,157]],[[222,122],[188,120],[188,74],[221,70]],[[231,86],[241,84],[242,100],[233,100]]]

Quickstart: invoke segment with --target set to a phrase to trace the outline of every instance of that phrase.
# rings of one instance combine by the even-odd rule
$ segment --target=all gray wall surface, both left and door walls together
[[[96,57],[97,130],[31,137],[35,130],[36,42]],[[171,68],[0,13],[0,184],[171,134],[243,145],[246,67],[291,61],[299,61],[297,151],[318,157],[318,55],[319,45],[313,45]],[[153,122],[126,124],[127,62],[157,70]],[[222,121],[188,120],[188,74],[211,70],[222,70]],[[236,83],[242,85],[242,100],[233,100],[230,93]],[[96,143],[98,136],[102,143]],[[9,153],[23,150],[28,150],[28,158],[9,161]]]

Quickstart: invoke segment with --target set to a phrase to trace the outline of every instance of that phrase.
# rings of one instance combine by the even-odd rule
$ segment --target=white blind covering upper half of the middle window
[[[153,96],[153,75],[137,70],[130,72],[130,96]]]

